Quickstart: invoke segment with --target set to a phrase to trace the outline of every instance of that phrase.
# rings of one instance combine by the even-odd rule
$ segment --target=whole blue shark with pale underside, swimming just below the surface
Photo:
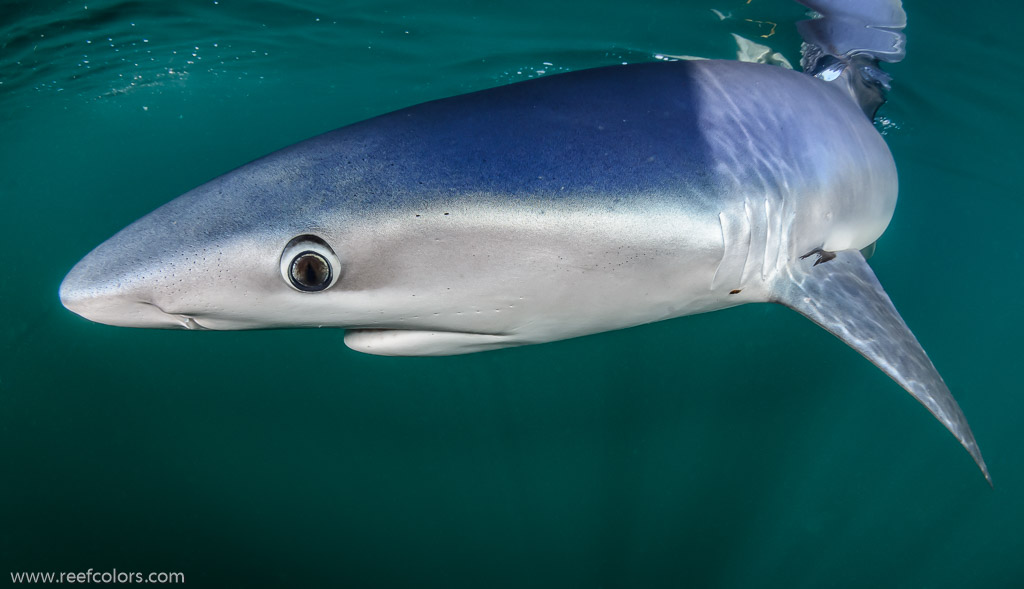
[[[902,7],[804,4],[818,15],[800,24],[805,74],[615,66],[383,115],[157,209],[85,256],[60,299],[129,327],[338,327],[389,355],[777,302],[921,401],[988,478],[859,253],[896,206],[870,116],[889,82],[879,62],[903,55]]]

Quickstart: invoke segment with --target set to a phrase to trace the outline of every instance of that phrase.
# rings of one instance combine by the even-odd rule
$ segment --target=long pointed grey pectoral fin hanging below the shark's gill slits
[[[956,436],[992,483],[967,418],[860,252],[796,260],[773,286],[772,302],[825,328],[892,377]]]

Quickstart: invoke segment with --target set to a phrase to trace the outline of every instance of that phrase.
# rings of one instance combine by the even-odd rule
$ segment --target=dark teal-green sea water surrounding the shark
[[[729,57],[729,33],[770,31],[746,18],[777,23],[767,42],[796,60],[796,4],[0,4],[4,582],[1024,585],[1024,5],[906,8],[882,113],[900,203],[871,263],[994,490],[909,395],[781,307],[384,359],[330,330],[127,330],[57,301],[89,249],[275,149],[529,76]]]

